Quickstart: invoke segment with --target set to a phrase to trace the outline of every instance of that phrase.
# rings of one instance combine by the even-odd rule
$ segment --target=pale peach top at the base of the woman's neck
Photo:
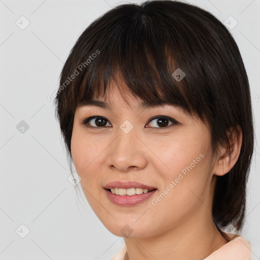
[[[226,233],[228,234],[228,233]],[[237,236],[203,260],[250,260],[252,247],[241,236]],[[126,253],[124,244],[110,260],[123,260]]]

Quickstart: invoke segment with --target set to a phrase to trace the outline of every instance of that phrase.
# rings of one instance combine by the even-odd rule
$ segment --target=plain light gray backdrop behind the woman
[[[77,197],[68,181],[67,156],[47,96],[57,89],[63,63],[87,25],[111,7],[134,2],[138,3],[0,1],[0,259],[104,260],[123,245],[123,238],[103,226],[84,195]],[[223,23],[230,16],[238,21],[232,34],[248,73],[259,136],[260,1],[188,2]],[[29,21],[23,30],[16,25],[16,21],[25,25],[21,16]],[[16,127],[22,120],[29,126],[24,133]],[[251,242],[255,259],[260,259],[259,161],[256,143],[242,233]],[[20,236],[26,235],[26,228],[21,224],[29,230],[24,238]]]

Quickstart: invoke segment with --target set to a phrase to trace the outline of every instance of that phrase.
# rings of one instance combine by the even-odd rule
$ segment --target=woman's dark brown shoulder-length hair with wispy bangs
[[[181,81],[173,77],[178,68]],[[241,229],[254,131],[248,78],[229,30],[209,12],[177,1],[124,4],[92,22],[64,64],[55,98],[69,159],[77,106],[105,97],[118,78],[146,103],[177,105],[207,121],[214,154],[219,145],[230,149],[226,133],[241,126],[240,156],[216,177],[212,208],[218,228]]]

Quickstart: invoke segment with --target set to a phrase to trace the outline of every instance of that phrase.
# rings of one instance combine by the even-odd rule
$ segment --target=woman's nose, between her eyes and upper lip
[[[144,169],[148,161],[147,147],[141,139],[135,127],[128,133],[124,128],[118,129],[108,150],[108,166],[119,172]]]

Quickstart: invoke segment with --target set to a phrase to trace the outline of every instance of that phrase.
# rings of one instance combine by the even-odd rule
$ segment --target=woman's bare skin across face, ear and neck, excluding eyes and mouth
[[[120,230],[126,224],[133,230],[124,238],[128,254],[124,259],[203,259],[228,242],[216,229],[211,208],[215,177],[235,165],[241,131],[232,135],[230,158],[223,147],[219,149],[222,155],[214,157],[209,128],[198,118],[171,105],[143,110],[141,101],[130,94],[127,100],[131,107],[113,83],[107,100],[112,110],[83,106],[75,112],[71,150],[86,199],[114,235],[123,237]],[[149,122],[157,115],[173,118],[178,124],[169,121],[165,128],[157,119]],[[81,124],[89,116],[105,117],[106,127],[97,126],[94,120],[89,125],[95,128]],[[128,134],[120,129],[125,120],[134,126]],[[152,205],[151,200],[200,154],[204,158]],[[136,206],[118,206],[103,188],[114,180],[138,181],[157,191]]]

